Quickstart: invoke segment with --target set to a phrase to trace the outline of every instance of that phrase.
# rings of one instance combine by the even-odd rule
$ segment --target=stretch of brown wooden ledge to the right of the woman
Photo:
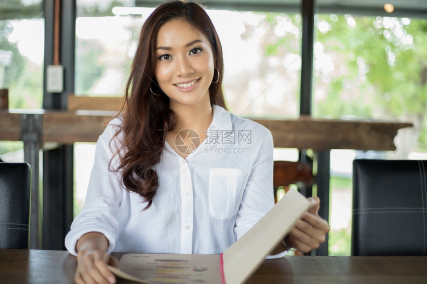
[[[254,121],[267,127],[274,146],[283,148],[394,151],[394,137],[412,123],[381,120],[341,120],[301,117]]]

